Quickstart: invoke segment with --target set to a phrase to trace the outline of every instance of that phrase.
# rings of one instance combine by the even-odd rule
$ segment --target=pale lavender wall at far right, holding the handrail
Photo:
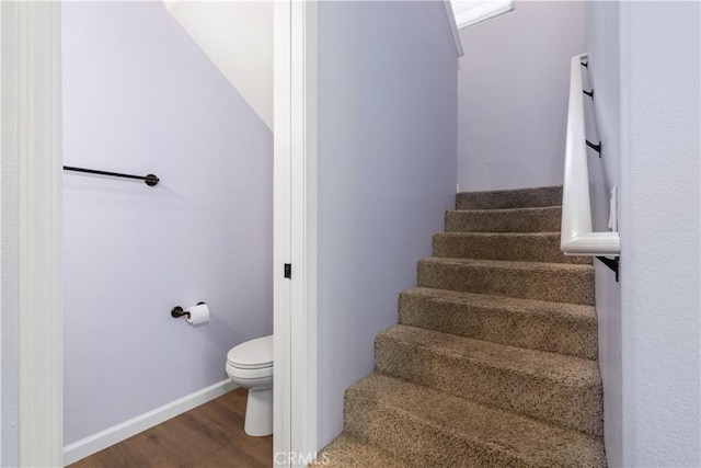
[[[602,174],[621,187],[620,285],[597,271],[610,466],[701,465],[700,13],[587,7]]]

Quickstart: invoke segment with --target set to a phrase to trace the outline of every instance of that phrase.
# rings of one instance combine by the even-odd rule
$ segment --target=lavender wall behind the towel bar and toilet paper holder
[[[64,5],[66,444],[272,333],[272,134],[161,2]],[[209,323],[170,317],[205,300]]]

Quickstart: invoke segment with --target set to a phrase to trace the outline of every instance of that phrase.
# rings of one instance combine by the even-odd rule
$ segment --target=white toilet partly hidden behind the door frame
[[[249,389],[245,433],[273,434],[273,335],[232,347],[227,353],[227,374],[240,387]]]

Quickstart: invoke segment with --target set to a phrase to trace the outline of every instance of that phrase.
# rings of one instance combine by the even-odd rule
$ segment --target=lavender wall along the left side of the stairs
[[[457,55],[438,2],[319,3],[319,444],[453,204]]]

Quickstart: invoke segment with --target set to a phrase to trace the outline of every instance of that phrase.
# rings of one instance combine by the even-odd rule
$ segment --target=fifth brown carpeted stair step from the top
[[[406,326],[597,358],[593,306],[415,287],[400,294],[399,311]]]

